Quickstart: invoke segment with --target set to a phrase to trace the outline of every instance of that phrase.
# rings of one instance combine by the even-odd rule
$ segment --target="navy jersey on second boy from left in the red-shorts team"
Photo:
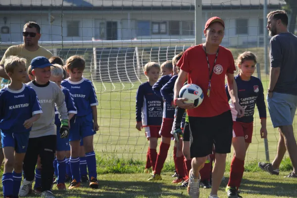
[[[162,88],[164,87],[164,85],[166,85],[166,83],[168,83],[170,81],[170,79],[172,78],[172,74],[166,75],[166,76],[162,76],[152,87],[152,90],[154,91],[154,93],[160,97],[160,98],[164,98],[164,96],[162,95]],[[172,97],[173,97],[173,92],[172,92]],[[170,98],[170,97],[169,97]],[[167,96],[168,99],[168,96]],[[173,99],[173,98],[172,98]],[[170,118],[173,119],[174,118],[174,112],[175,109],[171,106],[171,103],[169,103],[170,101],[166,102],[166,99],[164,98],[164,109],[163,109],[163,118]]]

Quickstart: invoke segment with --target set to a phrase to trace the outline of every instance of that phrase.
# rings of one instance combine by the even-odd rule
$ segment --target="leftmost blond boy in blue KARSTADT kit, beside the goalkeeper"
[[[26,59],[10,56],[4,69],[10,84],[0,91],[1,143],[5,156],[3,197],[17,198],[29,134],[42,109],[35,91],[22,83],[26,80]]]

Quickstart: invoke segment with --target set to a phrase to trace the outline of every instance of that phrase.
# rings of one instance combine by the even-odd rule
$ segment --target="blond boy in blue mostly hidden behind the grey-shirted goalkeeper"
[[[61,87],[61,82],[63,79],[63,69],[62,66],[59,64],[53,64],[55,67],[51,67],[51,75],[50,81],[57,84],[62,92],[65,95],[65,103],[68,110],[68,117],[69,120],[73,118],[73,116],[77,113],[77,109],[74,105],[74,100],[71,97],[71,94],[68,89]],[[57,129],[60,128],[61,122],[59,119],[59,112],[55,111],[55,125]],[[65,179],[66,179],[66,150],[69,148],[69,138],[60,138],[59,131],[57,130],[57,147],[56,147],[56,159],[54,160],[54,169],[55,169],[55,176],[56,184],[58,190],[66,190],[65,186]]]

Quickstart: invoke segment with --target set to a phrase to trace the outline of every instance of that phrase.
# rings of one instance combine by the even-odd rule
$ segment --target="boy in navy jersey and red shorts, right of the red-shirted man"
[[[264,101],[263,86],[260,79],[251,76],[255,71],[256,56],[246,51],[238,56],[237,59],[239,74],[235,76],[235,81],[238,87],[238,98],[240,105],[245,108],[243,117],[237,117],[237,111],[234,104],[231,102],[231,112],[233,117],[233,139],[232,145],[234,155],[231,161],[230,178],[226,187],[228,198],[237,198],[238,189],[245,170],[246,151],[251,143],[253,131],[253,115],[255,104],[258,107],[261,119],[261,138],[267,137],[266,130],[266,106]],[[230,95],[226,86],[228,100]]]

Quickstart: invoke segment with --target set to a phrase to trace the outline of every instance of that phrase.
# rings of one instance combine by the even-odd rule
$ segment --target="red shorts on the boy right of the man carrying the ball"
[[[233,121],[233,138],[245,137],[246,143],[251,143],[253,122],[244,123]]]

